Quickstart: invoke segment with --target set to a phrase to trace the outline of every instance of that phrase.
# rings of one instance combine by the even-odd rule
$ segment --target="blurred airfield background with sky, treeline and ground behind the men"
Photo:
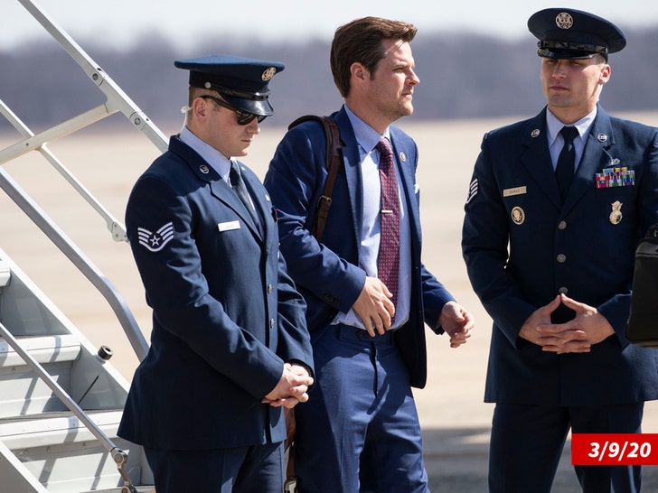
[[[425,9],[421,2],[409,10],[387,0],[350,3],[343,9],[332,4],[324,12],[318,9],[325,7],[315,3],[285,0],[272,9],[258,0],[250,4],[249,14],[263,16],[258,23],[249,23],[239,3],[216,9],[214,3],[199,0],[181,10],[180,3],[169,0],[116,0],[102,15],[91,14],[83,0],[65,5],[42,0],[41,4],[167,136],[183,125],[178,108],[185,103],[186,75],[173,69],[175,58],[229,51],[285,60],[287,70],[272,84],[277,115],[261,126],[262,134],[243,160],[261,178],[288,122],[304,113],[331,112],[341,103],[327,67],[328,43],[337,25],[367,14],[418,25],[413,45],[421,78],[416,112],[399,125],[416,139],[420,150],[423,258],[476,321],[474,336],[460,349],[449,349],[446,338],[428,330],[428,386],[416,392],[418,413],[432,491],[486,491],[493,405],[484,404],[483,395],[491,320],[465,274],[460,249],[463,205],[484,133],[534,115],[543,106],[535,40],[525,30],[525,21],[552,5],[513,0],[501,9],[476,0],[441,9],[436,5]],[[44,38],[32,24],[23,29],[25,22],[34,21],[16,5],[5,2],[3,7],[10,12],[5,19],[12,22],[0,33],[0,98],[36,133],[95,106],[99,91],[59,46],[53,48],[47,35]],[[587,2],[571,5],[588,10]],[[650,27],[658,23],[658,10],[646,9],[644,0],[597,4],[597,14],[619,18],[619,25],[634,36],[626,51],[613,60],[613,80],[602,102],[615,115],[658,126],[653,82],[658,66],[648,61],[655,54],[656,30]],[[190,12],[202,12],[203,25],[187,17]],[[318,17],[324,23],[317,23]],[[174,24],[165,23],[172,18]],[[0,149],[18,140],[14,129],[0,121]],[[119,221],[134,181],[159,154],[120,115],[48,147]],[[150,310],[128,245],[112,239],[99,215],[38,153],[3,168],[108,276],[148,338]],[[129,381],[137,360],[107,302],[3,192],[0,218],[0,248],[95,346],[105,344],[114,350],[110,362]],[[658,404],[647,404],[644,423],[645,433],[658,433]],[[645,468],[644,476],[644,490],[658,491],[658,468]],[[579,491],[569,465],[569,447],[554,491]]]

